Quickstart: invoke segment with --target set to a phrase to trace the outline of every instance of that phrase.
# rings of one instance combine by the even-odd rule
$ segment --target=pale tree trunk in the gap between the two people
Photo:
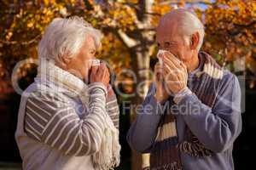
[[[138,27],[142,26],[143,28],[150,28],[151,18],[148,14],[151,12],[151,8],[154,0],[139,0],[140,10],[137,10],[137,19],[138,19]],[[139,23],[140,22],[140,23]],[[136,96],[132,100],[134,105],[141,105],[143,103],[143,99],[145,98],[148,92],[149,85],[149,65],[150,65],[150,55],[151,48],[147,42],[152,42],[153,35],[150,31],[141,32],[141,39],[138,40],[140,46],[135,48],[132,51],[131,57],[136,57],[136,59],[132,60],[132,69],[136,71],[137,75],[137,83],[134,83],[135,89],[137,89]],[[139,85],[139,87],[137,87]],[[138,92],[140,90],[140,92]],[[135,108],[135,107],[132,107]],[[136,111],[131,111],[131,122],[134,120],[137,115]],[[148,156],[142,156],[142,154],[137,153],[135,150],[132,150],[131,155],[131,169],[132,170],[140,170],[143,169],[145,164],[148,164]]]

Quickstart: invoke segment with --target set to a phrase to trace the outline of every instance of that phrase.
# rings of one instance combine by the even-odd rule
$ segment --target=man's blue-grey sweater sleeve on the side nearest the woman
[[[165,109],[154,98],[154,91],[154,84],[151,84],[143,101],[142,109],[138,111],[126,137],[131,148],[142,153],[149,152],[152,144],[154,144],[161,113]]]

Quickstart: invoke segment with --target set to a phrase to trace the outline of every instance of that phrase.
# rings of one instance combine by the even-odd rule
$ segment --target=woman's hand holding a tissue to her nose
[[[101,63],[99,66],[92,66],[90,72],[90,83],[102,82],[106,87],[109,84],[109,72],[106,64]]]

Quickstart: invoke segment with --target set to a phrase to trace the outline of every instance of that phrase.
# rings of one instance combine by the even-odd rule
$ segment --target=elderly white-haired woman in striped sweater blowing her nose
[[[23,169],[119,164],[119,107],[108,68],[95,59],[100,40],[100,31],[79,17],[55,19],[46,29],[38,76],[20,101],[15,139]]]

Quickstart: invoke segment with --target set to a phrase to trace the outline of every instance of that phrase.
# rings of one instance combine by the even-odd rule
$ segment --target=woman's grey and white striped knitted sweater
[[[83,83],[67,71],[65,77],[75,85]],[[106,113],[119,128],[115,94],[108,95],[102,83],[91,83],[84,89],[89,96],[85,103],[64,84],[41,78],[21,97],[15,137],[23,169],[98,169],[92,156],[102,146]]]

